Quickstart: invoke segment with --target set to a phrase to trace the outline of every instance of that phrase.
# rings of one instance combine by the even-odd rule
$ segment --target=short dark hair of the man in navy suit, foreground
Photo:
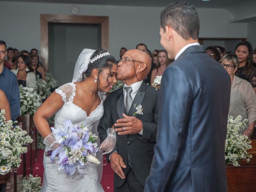
[[[186,1],[169,4],[160,14],[161,28],[172,27],[183,39],[198,39],[200,24],[194,5]]]

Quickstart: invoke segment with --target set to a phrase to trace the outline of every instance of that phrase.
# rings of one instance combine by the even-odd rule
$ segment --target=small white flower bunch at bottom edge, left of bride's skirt
[[[41,177],[34,177],[31,174],[23,178],[23,192],[40,192]]]

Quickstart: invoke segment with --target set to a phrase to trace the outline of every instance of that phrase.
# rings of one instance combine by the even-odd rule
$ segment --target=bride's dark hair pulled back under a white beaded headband
[[[96,57],[102,53],[105,53],[105,52],[108,52],[108,51],[105,49],[96,50],[92,54],[90,59],[93,59],[94,57]],[[89,63],[87,70],[85,72],[83,72],[83,77],[89,77],[92,73],[92,70],[94,70],[94,69],[98,69],[98,71],[99,71],[98,74],[100,74],[102,72],[102,70],[106,69],[106,68],[108,68],[111,71],[112,64],[117,65],[117,62],[116,62],[116,59],[114,58],[114,56],[112,56],[112,55],[103,56],[102,58],[99,58],[98,60],[96,60],[92,63],[91,62]]]

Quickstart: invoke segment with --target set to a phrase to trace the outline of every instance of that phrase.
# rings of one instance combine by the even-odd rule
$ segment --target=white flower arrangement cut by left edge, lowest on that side
[[[12,120],[4,118],[5,111],[0,112],[0,174],[12,172],[12,167],[19,167],[20,155],[28,151],[26,144],[33,140],[19,126],[13,126]],[[17,122],[14,122],[17,123]]]

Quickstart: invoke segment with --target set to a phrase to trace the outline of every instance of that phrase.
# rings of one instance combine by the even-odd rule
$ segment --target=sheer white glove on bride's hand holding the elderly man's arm
[[[107,134],[108,134],[107,138],[104,139],[104,141],[100,145],[100,151],[105,151],[103,153],[103,155],[110,153],[116,146],[116,132],[115,132],[115,130],[113,128],[112,129],[108,128]]]

